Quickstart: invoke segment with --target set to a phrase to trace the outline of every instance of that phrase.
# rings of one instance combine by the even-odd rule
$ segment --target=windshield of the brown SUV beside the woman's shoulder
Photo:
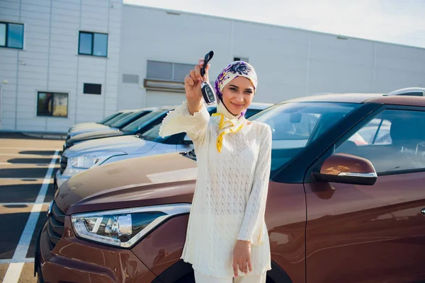
[[[263,110],[249,120],[264,122],[271,127],[273,139],[271,171],[273,172],[288,163],[308,144],[322,136],[336,122],[360,105],[319,102],[283,103]],[[193,158],[193,151],[191,158]]]

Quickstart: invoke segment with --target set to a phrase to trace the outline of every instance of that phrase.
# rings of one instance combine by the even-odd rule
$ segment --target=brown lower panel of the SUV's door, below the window
[[[307,282],[424,282],[425,173],[305,184]]]

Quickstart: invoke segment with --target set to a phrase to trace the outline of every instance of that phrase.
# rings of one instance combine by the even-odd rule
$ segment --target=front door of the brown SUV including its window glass
[[[424,110],[386,108],[336,143],[378,178],[305,184],[307,282],[425,281],[424,129]],[[362,133],[365,142],[350,140]]]

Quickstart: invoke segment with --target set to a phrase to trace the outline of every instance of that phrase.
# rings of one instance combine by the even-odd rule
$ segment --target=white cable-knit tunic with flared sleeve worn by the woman
[[[271,168],[271,129],[261,122],[225,134],[217,151],[218,120],[205,106],[191,115],[184,102],[162,122],[162,137],[186,132],[195,146],[198,178],[181,258],[193,269],[219,278],[234,277],[237,240],[251,241],[252,272],[271,270],[264,221]],[[239,276],[244,273],[239,271]]]

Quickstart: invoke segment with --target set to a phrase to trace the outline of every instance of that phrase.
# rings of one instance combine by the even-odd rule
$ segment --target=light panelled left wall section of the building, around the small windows
[[[2,130],[66,132],[117,110],[122,6],[120,0],[0,1],[0,21],[24,24],[23,50],[0,48]],[[79,30],[108,33],[108,57],[79,55]],[[84,83],[101,83],[101,95],[83,94]],[[68,116],[38,117],[38,91],[68,93]]]

